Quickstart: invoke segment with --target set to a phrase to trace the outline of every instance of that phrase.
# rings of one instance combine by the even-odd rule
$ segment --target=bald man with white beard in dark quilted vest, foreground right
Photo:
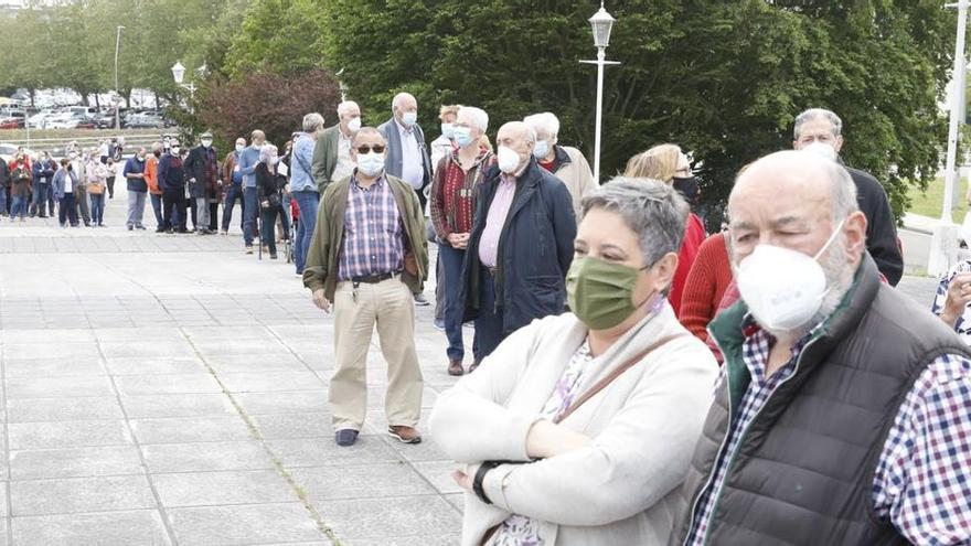
[[[793,151],[728,201],[741,301],[672,545],[971,542],[971,353],[879,281],[844,168]]]

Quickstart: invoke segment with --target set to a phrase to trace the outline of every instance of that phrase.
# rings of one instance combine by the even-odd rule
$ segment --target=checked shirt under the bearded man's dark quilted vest
[[[738,414],[718,454],[712,485],[702,492],[685,544],[705,543],[728,461],[741,431],[787,377],[792,375],[809,334],[792,347],[791,358],[766,377],[772,338],[764,330],[745,340],[743,360],[751,374]],[[725,368],[718,384],[724,379]],[[716,386],[717,388],[717,386]],[[971,542],[971,361],[945,354],[918,376],[897,410],[877,462],[873,483],[876,514],[889,520],[914,544]]]

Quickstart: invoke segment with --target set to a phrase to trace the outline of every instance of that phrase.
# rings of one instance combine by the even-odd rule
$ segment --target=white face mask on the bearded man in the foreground
[[[736,275],[738,291],[762,328],[775,332],[794,331],[812,320],[828,291],[826,274],[818,260],[842,228],[843,222],[840,222],[815,256],[758,245],[741,260]]]

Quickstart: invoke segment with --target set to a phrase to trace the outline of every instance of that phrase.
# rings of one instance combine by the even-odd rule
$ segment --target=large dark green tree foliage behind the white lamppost
[[[492,130],[551,110],[561,141],[593,156],[596,68],[586,22],[597,3],[566,0],[331,0],[327,54],[370,124],[394,93],[482,106]],[[791,147],[794,116],[844,119],[847,163],[882,180],[899,214],[906,181],[936,172],[954,14],[929,0],[611,1],[618,22],[605,79],[602,174],[673,141],[701,162],[704,197],[724,202],[735,173]]]

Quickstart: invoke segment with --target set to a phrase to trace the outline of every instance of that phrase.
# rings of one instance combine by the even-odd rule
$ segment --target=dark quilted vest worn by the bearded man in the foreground
[[[729,418],[749,384],[741,361],[746,313],[739,303],[711,326],[728,381],[695,447],[683,490],[687,512],[676,520],[672,545],[685,542]],[[743,432],[705,544],[908,544],[873,511],[874,471],[904,397],[945,353],[971,356],[927,308],[881,285],[865,255],[841,307]]]

